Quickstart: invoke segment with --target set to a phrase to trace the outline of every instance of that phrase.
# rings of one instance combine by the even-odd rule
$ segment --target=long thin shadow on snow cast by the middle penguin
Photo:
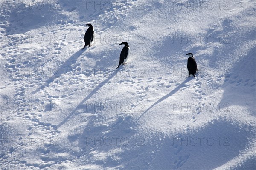
[[[108,77],[108,79],[105,79],[104,81],[102,81],[96,88],[93,89],[93,91],[90,92],[90,94],[88,94],[80,103],[78,106],[76,106],[76,108],[60,123],[57,125],[57,128],[61,127],[65,122],[67,122],[67,120],[79,109],[79,107],[81,107],[81,105],[87,101],[88,99],[90,99],[91,96],[93,96],[93,94],[95,94],[103,85],[105,85],[110,79],[112,79],[115,75],[116,75],[117,71],[114,71],[113,74],[111,74],[110,77]]]

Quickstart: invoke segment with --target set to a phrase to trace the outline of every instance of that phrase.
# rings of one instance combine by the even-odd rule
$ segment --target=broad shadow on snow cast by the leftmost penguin
[[[32,94],[37,93],[38,91],[40,91],[41,89],[44,89],[45,87],[49,86],[49,84],[51,82],[53,82],[56,78],[61,77],[61,74],[65,73],[65,71],[67,71],[67,68],[70,67],[71,64],[74,64],[76,62],[76,60],[78,59],[78,57],[84,52],[85,50],[79,50],[77,51],[75,54],[73,54],[71,57],[69,57],[62,65],[61,67],[58,69],[58,71],[52,75],[52,77],[50,77],[43,85],[41,85],[40,88],[36,89],[35,91],[32,92]]]

